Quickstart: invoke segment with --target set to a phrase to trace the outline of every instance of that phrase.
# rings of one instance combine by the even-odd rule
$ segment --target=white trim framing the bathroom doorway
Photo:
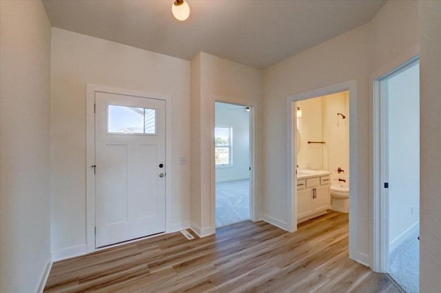
[[[358,252],[358,120],[357,120],[357,81],[349,80],[336,85],[329,85],[320,89],[305,91],[287,97],[287,230],[297,230],[297,191],[292,188],[296,182],[296,173],[292,172],[296,166],[296,155],[293,146],[296,145],[297,120],[294,111],[295,102],[335,94],[340,91],[349,91],[349,258],[364,259],[363,254]],[[293,123],[294,122],[294,123]],[[369,259],[369,258],[368,258]]]

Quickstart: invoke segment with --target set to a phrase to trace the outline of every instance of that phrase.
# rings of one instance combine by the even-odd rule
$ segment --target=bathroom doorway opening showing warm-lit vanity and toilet
[[[349,91],[295,102],[297,223],[349,213]]]

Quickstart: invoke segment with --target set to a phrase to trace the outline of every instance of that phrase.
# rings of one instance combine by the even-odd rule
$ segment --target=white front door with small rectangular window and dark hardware
[[[95,247],[165,232],[165,101],[95,94]]]

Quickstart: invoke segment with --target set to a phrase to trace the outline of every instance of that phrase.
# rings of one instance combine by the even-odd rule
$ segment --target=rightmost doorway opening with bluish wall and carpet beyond
[[[375,80],[375,152],[380,271],[419,290],[420,67],[418,57]]]

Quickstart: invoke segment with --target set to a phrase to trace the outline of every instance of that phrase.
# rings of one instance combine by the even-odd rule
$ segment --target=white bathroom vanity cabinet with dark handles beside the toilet
[[[327,171],[298,176],[296,186],[298,222],[322,215],[331,207],[330,183]]]

